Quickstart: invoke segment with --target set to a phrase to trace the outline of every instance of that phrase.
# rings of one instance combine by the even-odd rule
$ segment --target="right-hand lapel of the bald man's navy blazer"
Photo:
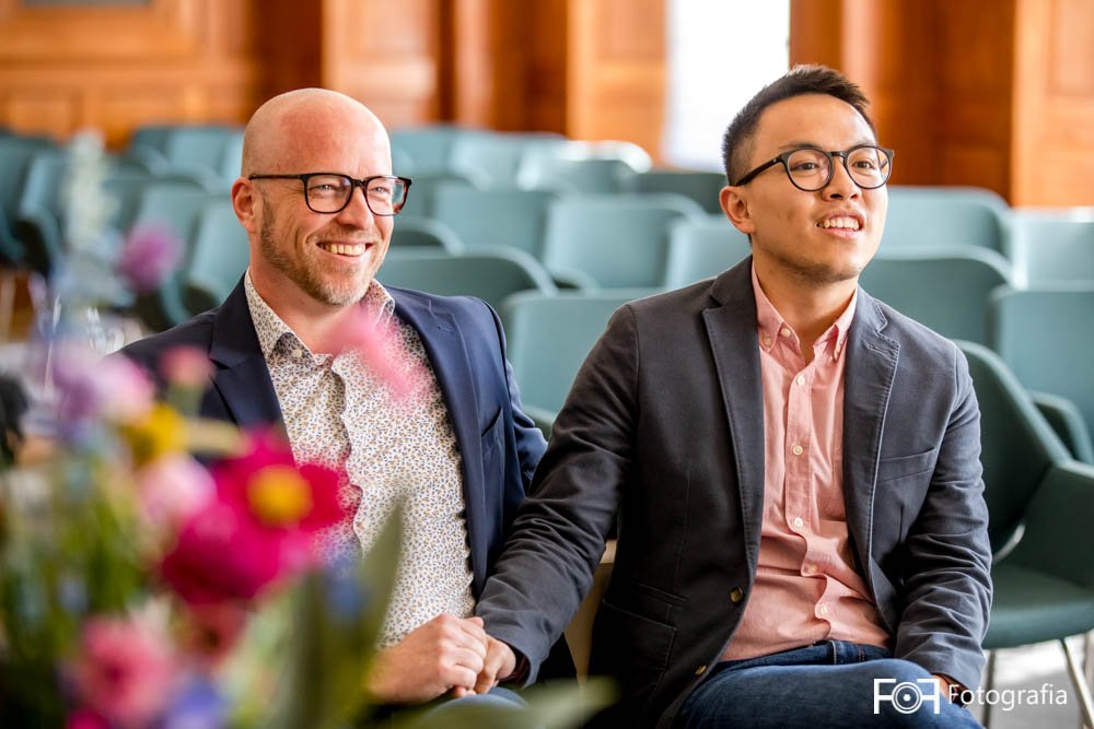
[[[433,302],[429,298],[395,287],[387,287],[387,292],[395,299],[395,314],[418,331],[452,419],[464,477],[464,521],[472,548],[473,588],[475,595],[478,595],[486,579],[489,541],[489,531],[485,528],[487,510],[482,440],[476,407],[478,383],[473,376],[467,348],[455,317],[449,311],[434,310]]]

